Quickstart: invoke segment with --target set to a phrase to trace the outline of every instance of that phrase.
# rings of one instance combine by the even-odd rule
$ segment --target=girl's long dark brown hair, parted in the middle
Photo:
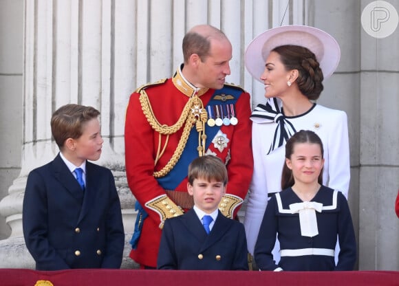
[[[294,146],[299,143],[319,144],[321,157],[323,158],[323,142],[321,142],[319,135],[310,130],[301,130],[292,135],[287,144],[285,144],[285,159],[291,159],[291,155],[294,153]],[[317,181],[319,181],[319,184],[323,184],[323,168],[320,171]],[[283,173],[281,175],[281,190],[294,186],[294,183],[295,180],[292,175],[292,170],[288,168],[287,163],[284,163]]]

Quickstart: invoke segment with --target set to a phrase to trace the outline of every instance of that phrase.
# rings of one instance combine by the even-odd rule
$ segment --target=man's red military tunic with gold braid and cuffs
[[[182,149],[192,154],[195,152],[195,156],[198,156],[199,151],[197,150],[201,150],[201,142],[204,139],[201,134],[208,135],[208,131],[211,130],[208,124],[204,124],[204,132],[192,131],[200,134],[197,140],[198,144],[184,145],[185,124],[181,124],[182,118],[185,118],[183,111],[187,110],[186,104],[195,94],[200,98],[203,107],[195,104],[188,108],[190,113],[195,113],[196,109],[206,109],[208,113],[211,111],[213,113],[211,115],[216,119],[216,113],[221,115],[223,105],[224,108],[231,107],[224,109],[224,113],[228,113],[228,116],[232,118],[231,113],[233,112],[235,118],[238,119],[236,125],[223,125],[215,136],[206,138],[207,142],[209,140],[212,142],[208,144],[206,151],[203,151],[204,154],[217,155],[227,166],[229,181],[226,193],[233,196],[230,197],[230,200],[226,199],[225,202],[228,205],[228,201],[233,199],[235,203],[233,206],[228,205],[224,210],[226,204],[223,205],[224,200],[222,200],[219,209],[225,215],[234,217],[246,197],[253,169],[251,121],[249,120],[250,96],[239,87],[230,86],[229,88],[230,90],[231,88],[235,89],[239,96],[222,94],[214,89],[195,89],[184,79],[178,69],[173,78],[146,85],[131,94],[125,122],[127,181],[131,192],[148,214],[146,219],[139,217],[139,221],[136,222],[136,226],[142,227],[141,234],[137,247],[131,250],[130,257],[137,263],[156,267],[162,232],[160,227],[162,228],[164,219],[182,214],[181,209],[186,210],[192,207],[187,200],[189,196],[186,167],[190,162],[183,164],[184,168],[180,170],[184,171],[171,177],[172,181],[176,178],[174,179],[176,187],[173,190],[168,191],[162,188],[158,179],[162,179],[163,173],[170,173],[169,176],[173,173],[173,168],[170,171],[168,168],[162,170],[168,163],[170,165],[171,161],[176,161],[176,158],[178,162],[183,162],[185,155],[182,154],[179,157]],[[227,103],[231,98],[235,98],[234,108],[232,104]],[[220,102],[221,108],[209,109],[206,105],[210,100]],[[195,126],[192,126],[193,124],[190,124],[190,130],[195,129]],[[158,129],[162,129],[168,134],[160,136]],[[186,150],[187,148],[188,150]],[[158,175],[154,175],[157,172],[159,172]],[[177,179],[179,181],[176,181]]]

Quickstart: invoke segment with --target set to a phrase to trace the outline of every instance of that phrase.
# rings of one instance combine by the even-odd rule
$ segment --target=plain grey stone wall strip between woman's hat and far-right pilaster
[[[334,2],[314,1],[313,16],[309,25],[332,34],[341,47],[341,60],[336,72],[324,80],[324,90],[318,102],[325,107],[340,109],[347,113],[351,178],[348,203],[354,222],[356,241],[359,241],[359,136],[360,136],[360,43],[354,35],[360,33],[358,3],[339,0]],[[348,17],[347,15],[351,15]],[[358,265],[355,266],[356,269]]]

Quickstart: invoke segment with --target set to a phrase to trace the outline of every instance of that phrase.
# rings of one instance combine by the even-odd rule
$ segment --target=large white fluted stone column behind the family
[[[25,0],[23,47],[23,142],[21,173],[0,201],[12,229],[0,241],[1,268],[34,268],[22,232],[22,203],[29,172],[58,153],[52,141],[52,113],[69,102],[101,111],[103,154],[96,162],[110,168],[122,204],[129,239],[136,212],[125,176],[124,126],[129,95],[145,83],[170,77],[182,63],[182,39],[193,25],[221,28],[233,43],[228,82],[242,85],[256,101],[263,87],[244,68],[246,45],[280,23],[303,24],[303,3],[283,0]],[[255,81],[256,82],[256,81]],[[244,208],[240,215],[244,215]]]

